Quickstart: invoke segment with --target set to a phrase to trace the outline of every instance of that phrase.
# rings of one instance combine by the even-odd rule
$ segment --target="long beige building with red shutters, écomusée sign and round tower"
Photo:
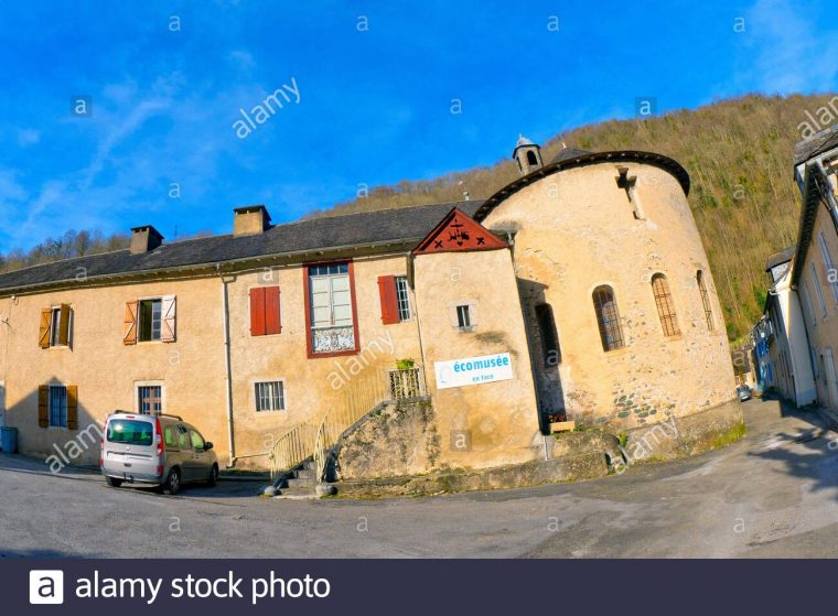
[[[128,250],[0,275],[3,421],[23,452],[95,461],[78,444],[108,412],[174,413],[224,463],[282,471],[418,399],[432,453],[411,473],[541,460],[563,418],[688,426],[658,457],[738,424],[686,171],[634,151],[544,164],[524,138],[514,158],[485,202],[283,225],[240,207],[232,235],[144,225]]]

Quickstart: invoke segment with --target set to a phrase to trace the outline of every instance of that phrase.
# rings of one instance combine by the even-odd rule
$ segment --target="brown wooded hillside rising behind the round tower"
[[[584,150],[651,150],[679,161],[689,172],[689,202],[705,242],[732,341],[748,333],[762,312],[766,257],[795,241],[799,193],[792,151],[806,111],[834,95],[722,100],[647,120],[612,120],[556,136],[542,144],[545,161],[565,141]],[[512,150],[512,148],[511,148]],[[319,215],[460,201],[463,191],[485,198],[517,176],[517,166],[451,173],[405,181],[369,192]]]

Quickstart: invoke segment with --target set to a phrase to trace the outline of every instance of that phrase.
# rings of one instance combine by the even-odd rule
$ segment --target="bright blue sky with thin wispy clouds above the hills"
[[[229,233],[253,203],[293,220],[359,184],[492,164],[519,132],[631,117],[637,97],[838,90],[835,17],[827,0],[8,0],[0,250],[71,228]],[[237,137],[239,109],[292,78],[299,102]]]

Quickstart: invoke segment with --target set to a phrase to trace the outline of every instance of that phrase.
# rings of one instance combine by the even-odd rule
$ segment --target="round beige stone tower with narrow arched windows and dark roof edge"
[[[541,169],[533,176],[529,153]],[[545,430],[563,417],[613,432],[676,418],[700,441],[738,424],[684,167],[647,152],[576,149],[542,166],[524,138],[515,158],[525,177],[475,218],[513,238]]]

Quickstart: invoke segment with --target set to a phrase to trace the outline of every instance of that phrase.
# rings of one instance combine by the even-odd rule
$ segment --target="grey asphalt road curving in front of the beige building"
[[[432,498],[168,497],[0,454],[0,556],[838,556],[838,435],[777,401],[744,409],[748,436],[701,456]]]

